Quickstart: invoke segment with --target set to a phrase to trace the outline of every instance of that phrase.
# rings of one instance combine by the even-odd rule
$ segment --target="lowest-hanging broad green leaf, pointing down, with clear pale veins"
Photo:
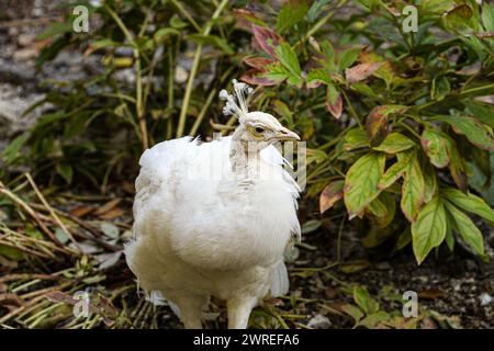
[[[412,242],[418,264],[445,240],[446,228],[445,206],[436,196],[420,210],[417,220],[412,224]]]

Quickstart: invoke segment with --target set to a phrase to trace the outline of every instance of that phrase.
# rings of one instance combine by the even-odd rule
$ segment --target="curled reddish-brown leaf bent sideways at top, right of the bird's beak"
[[[367,116],[366,129],[371,141],[371,146],[378,146],[384,140],[390,133],[388,126],[388,116],[390,114],[398,114],[406,111],[403,105],[381,105],[372,109]]]

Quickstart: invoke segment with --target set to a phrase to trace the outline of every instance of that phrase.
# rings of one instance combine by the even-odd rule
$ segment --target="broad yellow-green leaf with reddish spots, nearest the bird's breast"
[[[348,170],[345,179],[344,200],[349,218],[362,216],[363,208],[379,193],[379,180],[384,171],[385,155],[369,152],[359,158]]]

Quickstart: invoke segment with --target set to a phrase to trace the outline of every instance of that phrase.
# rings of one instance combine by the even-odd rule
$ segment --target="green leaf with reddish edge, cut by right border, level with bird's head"
[[[437,116],[435,120],[448,123],[456,133],[463,134],[481,149],[494,150],[492,129],[479,120],[468,116]]]

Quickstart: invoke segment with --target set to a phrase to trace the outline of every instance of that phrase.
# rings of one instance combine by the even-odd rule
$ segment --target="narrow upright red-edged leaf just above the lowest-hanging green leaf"
[[[425,199],[425,181],[416,154],[412,156],[402,185],[401,207],[409,222],[415,222]]]

